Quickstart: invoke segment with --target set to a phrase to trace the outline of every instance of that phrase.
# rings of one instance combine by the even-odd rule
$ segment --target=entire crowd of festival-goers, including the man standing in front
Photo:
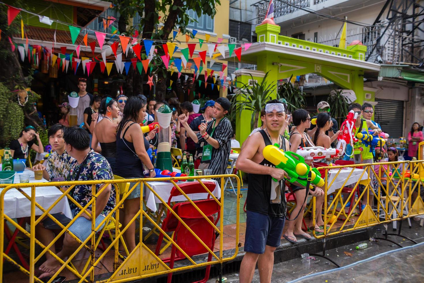
[[[227,98],[206,101],[202,105],[202,113],[195,113],[190,101],[180,104],[178,98],[148,101],[144,95],[128,98],[123,94],[116,98],[101,98],[86,92],[84,79],[78,81],[78,87],[80,100],[77,120],[80,126],[68,127],[69,104],[64,102],[59,105],[63,116],[59,123],[48,130],[53,153],[47,157],[45,163],[33,166],[34,170],[43,170],[43,177],[49,181],[106,180],[113,179],[114,175],[125,179],[155,177],[152,151],[158,146],[158,132],[154,129],[143,134],[140,124],[157,122],[156,111],[162,105],[167,105],[172,110],[170,144],[186,154],[192,154],[196,169],[211,169],[212,175],[226,174],[230,150],[240,148],[240,143],[234,139],[234,129],[226,118],[231,106]],[[301,228],[306,207],[306,202],[301,200],[306,199],[309,194],[316,197],[316,219],[311,219],[308,231],[315,230],[318,235],[324,233],[325,224],[321,215],[324,188],[307,189],[298,183],[286,184],[284,178],[287,173],[266,160],[262,150],[265,146],[276,144],[283,151],[292,152],[305,147],[335,147],[340,130],[337,121],[331,117],[330,110],[330,105],[321,101],[318,103],[318,114],[311,118],[305,109],[289,112],[287,102],[283,98],[268,101],[260,113],[262,126],[254,129],[242,144],[236,167],[248,174],[248,197],[245,256],[240,268],[240,282],[251,281],[256,263],[259,266],[261,281],[271,280],[273,251],[279,246],[281,237],[291,243],[296,243],[298,238],[311,239],[311,235]],[[381,133],[380,126],[371,120],[374,113],[371,104],[352,103],[350,110],[358,114],[355,134],[363,130]],[[311,125],[313,118],[316,118],[316,125]],[[419,126],[414,123],[408,134],[409,155],[414,157],[417,156],[418,143],[423,140]],[[35,137],[38,145],[33,142]],[[22,159],[28,157],[29,149],[39,153],[44,151],[39,135],[32,126],[26,127],[20,137],[12,141],[10,148],[14,158]],[[353,149],[350,150],[353,154],[347,159],[357,164],[400,160],[399,152],[393,147],[379,147],[373,154],[362,143],[354,143]],[[346,156],[322,158],[309,164],[315,167],[326,166],[339,158]],[[387,165],[383,166],[387,168]],[[376,169],[378,170],[378,167]],[[369,178],[371,187],[376,190],[378,182],[375,182],[373,174],[370,174]],[[135,183],[131,183],[130,188],[134,185]],[[280,201],[270,202],[271,188],[275,186],[281,188],[281,195],[277,196]],[[113,209],[115,193],[111,185],[99,184],[96,190],[101,191],[95,206],[96,223],[100,223]],[[293,192],[299,200],[290,217],[287,217],[282,201],[287,191]],[[90,186],[78,185],[70,193],[75,201],[84,207],[91,199],[91,192]],[[127,196],[123,208],[124,226],[128,225],[138,212],[141,197],[143,195],[140,185]],[[361,202],[363,208],[367,201],[364,197]],[[370,205],[372,204],[373,200],[370,198]],[[78,217],[78,221],[75,221],[69,230],[84,241],[91,233],[90,216],[81,213],[80,207],[75,203],[70,202],[70,205],[73,216]],[[88,213],[92,213],[90,209],[91,206],[87,210]],[[56,215],[56,218],[62,224],[71,220],[63,215]],[[283,234],[286,220],[287,230]],[[40,241],[47,245],[53,240],[53,231],[57,228],[50,219],[40,222],[36,227]],[[130,252],[136,247],[135,229],[133,222],[124,233]],[[75,239],[66,234],[63,248],[57,255],[66,258],[75,250],[77,244]],[[50,249],[56,252],[54,245]],[[48,254],[46,257],[45,263],[39,267],[42,272],[39,278],[51,276],[59,269],[59,262]]]

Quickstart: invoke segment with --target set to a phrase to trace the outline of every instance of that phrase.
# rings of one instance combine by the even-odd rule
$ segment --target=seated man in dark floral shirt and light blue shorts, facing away
[[[66,181],[113,179],[112,170],[107,160],[89,148],[90,137],[86,130],[76,127],[69,128],[64,132],[64,140],[68,154],[77,160],[77,163],[74,163],[69,168],[65,167],[64,176]],[[104,190],[96,197],[96,227],[98,227],[116,204],[114,186],[110,184],[98,184],[96,185],[96,192],[100,191],[102,188],[104,188]],[[91,185],[75,186],[70,194],[78,204],[84,207],[92,199]],[[70,207],[74,217],[81,211],[73,202],[70,202]],[[89,206],[86,211],[91,215],[93,213],[91,211],[91,206]],[[98,227],[97,230],[100,230],[102,227]],[[81,241],[85,241],[92,233],[91,217],[86,213],[82,213],[68,230]],[[76,241],[66,233],[63,241],[63,248],[57,253],[57,256],[64,259],[71,255],[79,245],[79,241]],[[39,278],[53,275],[60,266],[61,264],[53,257],[47,258],[47,261],[39,267],[39,269],[44,272]]]

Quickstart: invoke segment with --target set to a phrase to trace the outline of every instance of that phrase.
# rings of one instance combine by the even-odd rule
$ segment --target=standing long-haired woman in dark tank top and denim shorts
[[[147,101],[140,96],[128,98],[122,115],[122,120],[118,125],[116,134],[117,160],[114,174],[126,178],[137,179],[156,176],[153,164],[150,161],[146,150],[149,143],[143,136],[139,123],[142,123],[146,111]],[[137,182],[130,182],[131,193],[124,201],[124,227],[140,210],[141,188]],[[135,248],[135,223],[133,222],[124,233],[124,238],[128,251]]]

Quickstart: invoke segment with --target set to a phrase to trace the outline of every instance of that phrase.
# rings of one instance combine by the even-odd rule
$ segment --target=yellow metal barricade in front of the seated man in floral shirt
[[[42,256],[48,253],[53,258],[55,258],[60,263],[60,268],[55,272],[55,274],[46,282],[52,282],[57,276],[59,276],[60,272],[62,272],[64,269],[69,270],[73,273],[73,275],[78,279],[78,282],[128,282],[132,280],[139,280],[146,277],[153,277],[156,275],[162,275],[167,274],[171,272],[178,272],[183,270],[188,270],[196,267],[201,266],[208,266],[212,264],[222,264],[226,261],[233,260],[237,253],[238,253],[238,247],[239,247],[239,213],[236,214],[236,233],[235,233],[235,242],[234,242],[234,254],[227,255],[226,257],[223,256],[223,218],[224,218],[224,180],[228,177],[234,177],[237,181],[237,212],[240,211],[240,179],[234,175],[234,174],[226,174],[226,175],[214,175],[214,176],[207,176],[208,178],[213,179],[219,179],[220,180],[220,198],[218,199],[215,197],[215,195],[206,188],[204,185],[204,179],[202,179],[202,176],[196,176],[196,177],[190,177],[190,179],[194,179],[194,182],[198,182],[204,190],[209,194],[209,198],[213,199],[215,203],[220,208],[220,219],[217,223],[218,225],[215,226],[214,223],[212,223],[208,217],[205,216],[205,214],[201,211],[201,209],[195,205],[195,203],[190,199],[190,197],[184,193],[184,191],[179,187],[178,180],[184,180],[187,179],[187,177],[170,177],[170,178],[144,178],[144,179],[119,179],[119,180],[98,180],[98,181],[80,181],[80,182],[46,182],[46,183],[29,183],[29,184],[11,184],[11,185],[0,185],[0,188],[3,188],[0,193],[0,282],[3,282],[3,277],[7,276],[4,274],[4,264],[6,262],[11,263],[16,269],[19,269],[20,271],[24,272],[29,277],[29,282],[44,282],[44,280],[40,280],[38,277],[36,277],[36,266],[39,266],[42,263]],[[215,248],[219,248],[219,252],[214,252],[211,250],[199,237],[196,235],[190,227],[187,226],[187,224],[177,215],[177,213],[167,205],[167,199],[162,199],[161,196],[159,196],[158,193],[156,193],[151,185],[149,185],[148,182],[152,181],[168,181],[173,184],[173,186],[178,189],[182,196],[185,197],[186,202],[190,202],[191,205],[195,208],[195,210],[198,211],[198,213],[203,216],[204,219],[213,227],[213,230],[215,230],[215,233],[219,236],[219,247],[218,243],[215,245]],[[207,181],[207,180],[206,180]],[[124,182],[136,182],[134,186],[128,189],[128,192],[121,196],[119,192],[119,188],[117,184],[124,183]],[[96,185],[104,184],[100,186],[100,189],[96,191]],[[96,206],[96,198],[105,191],[111,184],[115,188],[115,194],[116,194],[116,205],[113,208],[113,210],[101,221],[100,224],[96,226],[95,219],[96,216],[93,215],[95,213],[95,206]],[[81,207],[81,205],[76,202],[72,196],[70,196],[70,192],[73,191],[76,185],[91,185],[92,186],[92,199],[88,200],[88,203]],[[171,238],[167,233],[165,233],[162,230],[162,227],[160,227],[154,219],[152,219],[149,214],[145,211],[146,209],[143,209],[143,200],[140,198],[139,202],[139,211],[136,213],[136,215],[131,219],[131,221],[124,226],[119,223],[120,219],[120,207],[124,204],[124,201],[127,199],[128,195],[134,191],[137,187],[137,185],[140,185],[141,187],[141,194],[144,195],[143,191],[145,193],[153,193],[154,197],[156,199],[159,199],[160,203],[164,207],[166,207],[165,210],[168,210],[170,213],[172,213],[176,219],[183,225],[191,234],[193,237],[195,237],[199,243],[212,255],[212,261],[205,262],[202,260],[199,260],[199,258],[196,258],[193,260],[190,256],[187,255],[186,252],[184,252],[181,247],[176,244],[176,242]],[[60,196],[49,207],[43,207],[42,205],[38,204],[36,202],[36,190],[38,187],[51,187],[52,190],[60,190]],[[26,193],[22,188],[31,188],[30,193]],[[147,188],[147,189],[146,189]],[[8,191],[14,190],[16,192],[21,193],[23,196],[25,196],[26,199],[28,199],[29,202],[31,202],[31,216],[29,221],[29,226],[31,227],[30,231],[26,231],[24,227],[21,227],[17,221],[14,221],[14,219],[11,219],[8,215],[5,214],[5,195]],[[28,191],[28,189],[26,190]],[[63,199],[67,199],[69,203],[73,203],[76,207],[81,209],[81,211],[68,223],[68,224],[61,224],[50,212],[52,211],[53,207],[57,205],[59,202],[63,201]],[[88,207],[91,205],[92,212],[89,213],[87,211]],[[36,213],[36,209],[38,209],[38,213]],[[41,213],[39,212],[41,211]],[[84,239],[84,241],[78,239],[75,235],[73,235],[68,228],[75,222],[75,220],[78,217],[81,217],[85,213],[89,218],[91,219],[92,225],[91,225],[91,233],[88,238]],[[51,241],[47,246],[42,244],[38,239],[37,235],[35,234],[35,227],[36,225],[40,225],[44,219],[50,218],[54,223],[56,223],[61,231],[57,233],[56,237],[53,241]],[[137,247],[130,252],[128,257],[126,257],[125,260],[122,260],[122,255],[119,253],[118,244],[119,241],[122,241],[123,234],[126,232],[128,227],[136,221],[136,219],[139,218],[139,225],[140,229],[138,231],[139,233],[139,243]],[[7,255],[4,251],[4,246],[6,244],[7,238],[5,238],[5,224],[6,221],[13,225],[16,229],[18,229],[21,233],[25,234],[29,238],[29,270],[25,269],[22,264],[18,263],[14,259],[11,258],[11,256]],[[172,245],[175,246],[176,249],[178,249],[182,254],[185,255],[186,260],[179,262],[178,267],[170,268],[167,263],[164,263],[161,258],[159,258],[157,255],[155,255],[154,251],[148,248],[146,244],[143,243],[143,229],[142,227],[145,227],[145,223],[148,223],[150,225],[153,225],[159,233],[162,233],[164,238],[166,238],[168,241],[172,243]],[[114,228],[114,229],[113,229]],[[7,227],[6,227],[7,229]],[[102,235],[106,230],[113,229],[115,232],[114,239],[111,241],[111,244],[104,250],[100,251],[98,248],[98,245],[100,244],[102,240]],[[50,251],[50,247],[56,244],[56,241],[61,238],[62,235],[65,233],[68,233],[75,241],[78,242],[79,246],[75,249],[75,251],[66,259],[63,260],[53,252]],[[172,246],[171,245],[171,246]],[[39,251],[39,248],[41,247],[41,252]],[[37,252],[36,252],[37,249]],[[109,251],[111,249],[114,249],[114,257],[113,257],[113,274],[106,280],[96,281],[95,277],[95,268],[98,266],[101,266],[100,261],[102,261],[106,255],[108,255]],[[84,268],[81,271],[81,268],[77,269],[72,264],[70,264],[73,259],[75,259],[75,256],[78,254],[78,252],[81,252],[83,250],[86,250],[89,252],[89,258],[86,261],[86,264],[84,265]],[[109,254],[110,255],[110,254]],[[103,277],[104,279],[104,277]]]

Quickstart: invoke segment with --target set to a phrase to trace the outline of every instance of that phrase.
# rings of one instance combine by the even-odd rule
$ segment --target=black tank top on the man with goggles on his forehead
[[[265,133],[265,130],[259,130],[258,132],[262,134],[262,137],[265,141],[265,146],[271,145],[271,141],[269,140],[268,135]],[[285,151],[286,140],[282,136],[281,138],[282,146],[280,149]],[[265,158],[259,164],[275,167],[275,165],[273,165]],[[248,174],[248,194],[246,199],[246,208],[248,210],[269,216],[282,217],[285,215],[285,182],[284,180],[280,181],[281,202],[279,204],[271,204],[271,179],[271,175]]]

